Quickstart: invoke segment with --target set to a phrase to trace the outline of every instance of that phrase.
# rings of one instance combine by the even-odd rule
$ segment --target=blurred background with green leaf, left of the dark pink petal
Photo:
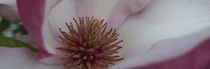
[[[16,48],[26,47],[34,52],[34,47],[17,13],[17,9],[10,5],[0,4],[0,47]]]

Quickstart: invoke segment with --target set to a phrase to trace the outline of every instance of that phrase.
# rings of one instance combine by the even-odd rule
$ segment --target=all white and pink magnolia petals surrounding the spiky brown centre
[[[108,28],[116,28],[119,39],[124,40],[117,54],[124,60],[110,69],[144,69],[150,64],[157,64],[148,67],[155,69],[202,69],[209,63],[206,54],[199,56],[209,52],[203,50],[208,48],[208,41],[204,41],[210,37],[208,0],[17,0],[17,5],[25,27],[39,46],[39,60],[44,63],[60,62],[61,53],[56,49],[62,46],[59,28],[68,31],[65,23],[72,18],[91,16],[103,19]],[[4,69],[62,67],[40,64],[22,48],[1,49],[7,52],[0,57]],[[165,63],[158,65],[160,62]]]

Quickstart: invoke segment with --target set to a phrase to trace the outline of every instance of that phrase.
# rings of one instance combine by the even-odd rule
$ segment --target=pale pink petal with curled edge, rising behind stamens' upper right
[[[149,2],[150,0],[120,1],[108,18],[108,25],[119,28],[128,16],[141,11]]]

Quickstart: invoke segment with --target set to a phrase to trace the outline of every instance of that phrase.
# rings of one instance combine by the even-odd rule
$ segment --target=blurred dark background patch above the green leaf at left
[[[15,8],[0,4],[0,36],[16,37],[26,34]]]

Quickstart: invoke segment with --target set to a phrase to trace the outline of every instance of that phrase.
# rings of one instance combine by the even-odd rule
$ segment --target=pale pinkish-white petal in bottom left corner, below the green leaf
[[[25,48],[0,48],[1,69],[61,69],[62,65],[39,63],[37,54]]]

